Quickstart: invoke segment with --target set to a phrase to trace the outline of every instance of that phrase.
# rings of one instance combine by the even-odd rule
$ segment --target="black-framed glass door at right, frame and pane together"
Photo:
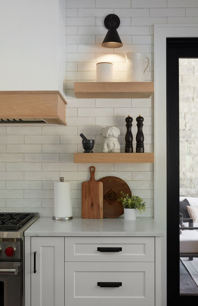
[[[167,305],[197,304],[198,38],[167,38],[166,63]]]

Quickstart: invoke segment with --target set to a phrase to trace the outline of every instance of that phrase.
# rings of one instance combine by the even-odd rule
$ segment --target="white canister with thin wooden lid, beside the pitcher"
[[[97,82],[113,82],[113,64],[101,62],[96,64]]]

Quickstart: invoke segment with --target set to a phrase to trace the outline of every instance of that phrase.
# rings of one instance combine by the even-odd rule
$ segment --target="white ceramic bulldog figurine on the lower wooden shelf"
[[[120,144],[118,142],[120,130],[118,128],[115,126],[106,126],[102,129],[101,135],[103,136],[103,153],[120,153]]]

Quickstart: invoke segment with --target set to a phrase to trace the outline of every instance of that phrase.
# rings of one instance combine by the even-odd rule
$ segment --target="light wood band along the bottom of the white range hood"
[[[60,91],[0,91],[0,124],[67,125],[66,104]]]

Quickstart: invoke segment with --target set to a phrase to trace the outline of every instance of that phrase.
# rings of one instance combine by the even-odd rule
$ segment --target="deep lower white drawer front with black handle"
[[[65,306],[154,306],[154,292],[154,263],[65,263]]]

